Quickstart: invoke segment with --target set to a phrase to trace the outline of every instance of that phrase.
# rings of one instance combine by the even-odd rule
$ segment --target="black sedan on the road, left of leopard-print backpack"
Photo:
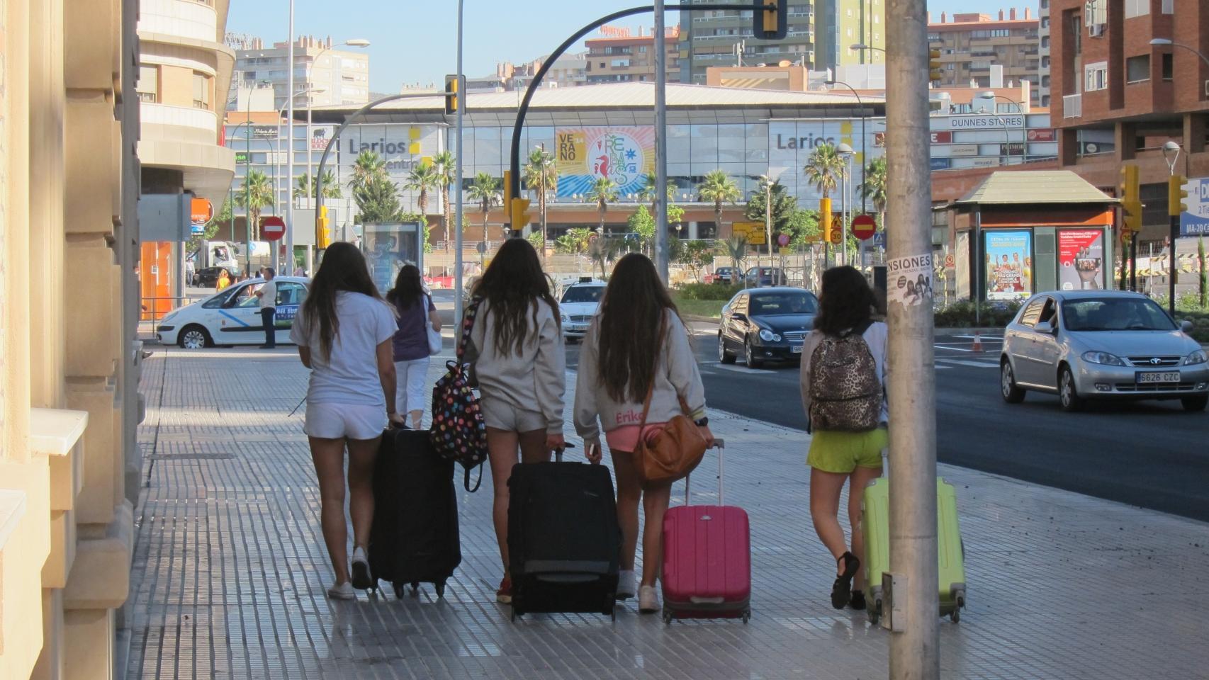
[[[808,290],[744,289],[722,308],[718,361],[734,364],[742,354],[748,368],[758,368],[764,361],[798,360],[817,313],[818,298]]]

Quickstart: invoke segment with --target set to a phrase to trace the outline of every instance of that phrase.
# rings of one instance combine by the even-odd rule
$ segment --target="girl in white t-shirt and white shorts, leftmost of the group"
[[[378,296],[360,251],[348,243],[334,243],[294,319],[290,339],[299,345],[302,365],[311,368],[303,431],[319,478],[323,540],[336,573],[328,597],[335,599],[353,599],[353,588],[372,585],[366,551],[374,522],[374,461],[382,430],[389,422],[401,420],[394,408],[391,339],[395,329],[394,313]],[[346,447],[353,522],[351,570]]]

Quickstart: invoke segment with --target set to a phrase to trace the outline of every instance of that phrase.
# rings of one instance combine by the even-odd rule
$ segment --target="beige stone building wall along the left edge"
[[[0,2],[6,680],[115,675],[138,490],[135,13]]]

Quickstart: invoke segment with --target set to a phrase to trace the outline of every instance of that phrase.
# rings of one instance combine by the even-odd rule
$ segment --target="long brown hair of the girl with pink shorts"
[[[636,402],[647,397],[655,379],[655,358],[665,342],[659,330],[667,309],[683,324],[650,260],[638,252],[621,257],[608,280],[596,320],[600,384],[613,401]]]

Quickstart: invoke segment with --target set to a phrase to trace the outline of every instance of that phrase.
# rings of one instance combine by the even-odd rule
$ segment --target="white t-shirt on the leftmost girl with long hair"
[[[319,322],[299,309],[290,329],[290,341],[311,348],[308,403],[352,403],[381,406],[386,396],[377,372],[377,345],[394,337],[394,312],[380,300],[359,292],[336,293],[340,330],[331,338],[331,356],[322,356]]]

